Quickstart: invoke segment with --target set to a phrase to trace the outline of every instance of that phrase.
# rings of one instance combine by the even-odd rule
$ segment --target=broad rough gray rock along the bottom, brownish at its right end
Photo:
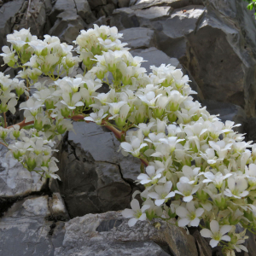
[[[162,221],[160,230],[146,221],[133,227],[127,222],[119,212],[73,218],[65,224],[63,246],[55,249],[55,255],[198,255],[193,236],[183,229]]]

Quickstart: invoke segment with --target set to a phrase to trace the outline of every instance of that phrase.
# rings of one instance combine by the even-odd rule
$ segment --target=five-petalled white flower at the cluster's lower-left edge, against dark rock
[[[131,218],[128,221],[129,227],[134,226],[137,224],[138,220],[146,220],[146,213],[144,213],[150,206],[144,205],[142,208],[140,207],[139,202],[137,199],[133,199],[131,201],[131,209],[125,209],[122,212],[124,218]]]

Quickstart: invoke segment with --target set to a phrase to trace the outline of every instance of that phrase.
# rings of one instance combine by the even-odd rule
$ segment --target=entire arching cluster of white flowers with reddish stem
[[[25,120],[1,127],[2,144],[30,172],[58,177],[55,138],[71,131],[73,121],[104,125],[119,139],[124,155],[142,161],[137,177],[145,187],[142,207],[133,199],[125,209],[129,225],[174,218],[182,228],[200,226],[201,236],[211,238],[212,247],[223,243],[227,255],[247,251],[245,232],[234,231],[236,224],[247,230],[256,224],[256,144],[244,142],[244,135],[234,131],[238,125],[224,124],[201,108],[180,69],[151,66],[148,75],[143,58],[132,56],[121,36],[116,27],[95,25],[81,31],[73,56],[73,47],[55,37],[38,40],[25,29],[9,35],[11,47],[3,47],[3,60],[22,67],[18,76],[35,91],[20,104]],[[79,61],[84,75],[68,77]],[[67,77],[60,79],[63,72]],[[39,75],[52,83],[37,82]],[[100,91],[104,83],[108,92]],[[3,75],[0,85],[7,106],[2,112],[12,111],[16,96],[11,90],[20,96],[28,89]],[[22,129],[27,125],[30,131]]]

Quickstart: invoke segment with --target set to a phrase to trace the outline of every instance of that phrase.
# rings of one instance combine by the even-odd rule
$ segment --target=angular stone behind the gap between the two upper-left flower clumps
[[[49,34],[60,38],[61,42],[72,44],[78,37],[80,30],[86,27],[84,20],[73,11],[65,11],[57,15],[55,25],[50,29]]]

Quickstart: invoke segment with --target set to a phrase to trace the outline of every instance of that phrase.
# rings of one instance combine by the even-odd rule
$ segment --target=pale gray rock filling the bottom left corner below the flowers
[[[63,241],[63,223],[55,223],[49,212],[48,195],[19,201],[0,219],[0,252],[9,256],[52,256]],[[15,246],[14,246],[15,245]]]

